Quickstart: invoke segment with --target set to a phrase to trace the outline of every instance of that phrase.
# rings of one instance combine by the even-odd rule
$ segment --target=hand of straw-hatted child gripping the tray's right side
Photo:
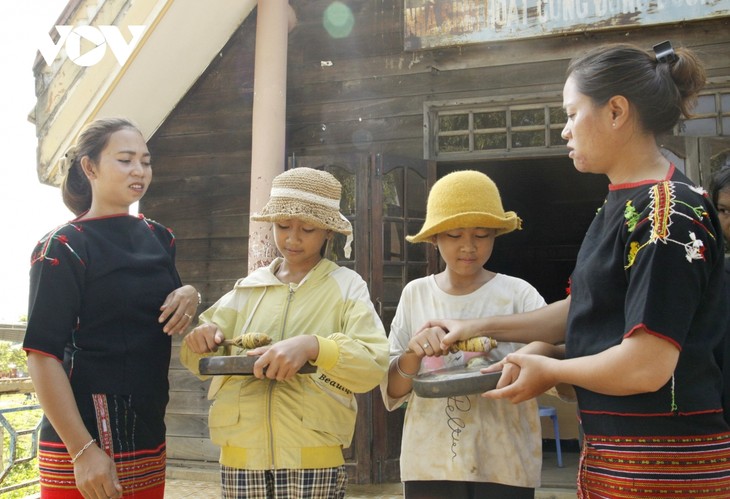
[[[254,376],[285,381],[293,378],[306,362],[317,359],[319,342],[314,336],[305,334],[248,350],[246,355],[261,356],[253,365]]]

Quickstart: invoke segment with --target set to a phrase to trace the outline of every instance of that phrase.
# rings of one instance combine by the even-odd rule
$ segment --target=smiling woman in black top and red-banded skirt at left
[[[172,232],[129,213],[152,180],[131,122],[89,124],[64,169],[77,218],[33,251],[23,342],[44,413],[41,497],[162,499],[170,337],[200,295],[180,282]]]

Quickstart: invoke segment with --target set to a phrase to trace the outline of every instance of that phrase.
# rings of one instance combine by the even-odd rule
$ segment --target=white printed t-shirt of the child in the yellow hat
[[[403,289],[390,327],[390,361],[408,348],[411,336],[428,320],[507,315],[543,306],[545,300],[534,287],[503,274],[461,296],[442,291],[433,275],[416,279]],[[486,357],[497,361],[521,346],[499,342]],[[424,357],[420,372],[462,366],[473,355],[457,352]],[[414,392],[393,399],[387,395],[387,383],[386,377],[380,388],[389,411],[408,402],[400,455],[402,481],[540,486],[542,435],[534,399],[515,405],[506,400],[488,400],[479,394],[422,398]]]

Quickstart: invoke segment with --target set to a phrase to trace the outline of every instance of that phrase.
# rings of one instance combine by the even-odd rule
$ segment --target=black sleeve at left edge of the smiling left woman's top
[[[82,229],[61,226],[37,244],[31,258],[28,326],[23,348],[63,359],[72,341],[84,287]]]

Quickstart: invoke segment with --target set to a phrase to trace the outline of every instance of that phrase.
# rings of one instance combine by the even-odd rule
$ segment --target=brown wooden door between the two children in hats
[[[389,331],[405,284],[432,272],[430,245],[407,244],[405,236],[423,225],[435,163],[380,154],[292,156],[289,168],[307,166],[332,173],[342,184],[342,213],[353,226],[351,258],[344,258],[344,237],[335,238],[329,255],[368,283],[370,296]],[[378,388],[357,395],[358,418],[346,465],[353,483],[400,480],[398,458],[403,411],[389,413]]]

